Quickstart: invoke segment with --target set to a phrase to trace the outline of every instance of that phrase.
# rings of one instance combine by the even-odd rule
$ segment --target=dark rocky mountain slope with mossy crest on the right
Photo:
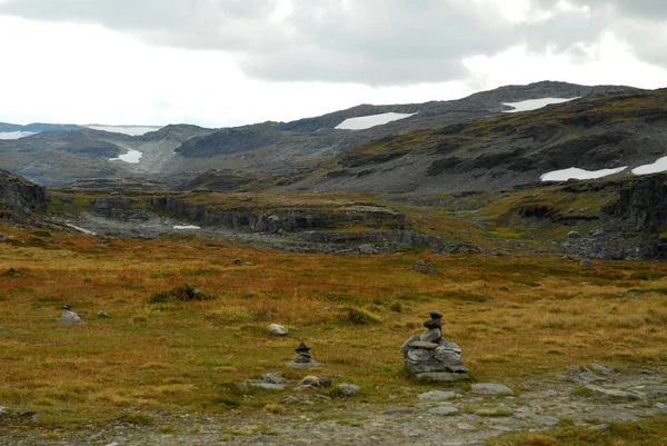
[[[293,190],[450,192],[509,188],[550,171],[648,165],[667,155],[667,90],[392,135],[325,162]]]

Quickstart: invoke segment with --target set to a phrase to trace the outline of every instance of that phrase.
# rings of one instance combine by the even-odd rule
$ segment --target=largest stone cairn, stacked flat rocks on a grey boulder
[[[442,338],[442,314],[431,311],[430,317],[424,323],[426,331],[411,336],[400,348],[406,360],[406,369],[421,380],[469,379],[460,347]]]

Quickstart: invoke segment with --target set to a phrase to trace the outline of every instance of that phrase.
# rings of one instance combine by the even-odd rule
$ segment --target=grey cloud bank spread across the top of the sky
[[[573,51],[607,30],[637,42],[641,27],[621,29],[621,14],[631,18],[626,24],[667,19],[663,0],[570,0],[589,6],[591,17],[560,11],[521,26],[504,20],[488,0],[293,0],[292,13],[276,21],[279,1],[4,0],[0,14],[99,23],[156,44],[225,50],[260,79],[367,85],[461,79],[464,58],[518,43]],[[557,3],[531,0],[542,10],[556,11]],[[641,54],[656,60],[658,51]]]

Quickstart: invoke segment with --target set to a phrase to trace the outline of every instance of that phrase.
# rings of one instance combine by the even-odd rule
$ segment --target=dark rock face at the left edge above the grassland
[[[46,209],[48,204],[43,187],[0,169],[0,218],[18,221]]]

